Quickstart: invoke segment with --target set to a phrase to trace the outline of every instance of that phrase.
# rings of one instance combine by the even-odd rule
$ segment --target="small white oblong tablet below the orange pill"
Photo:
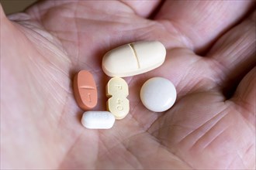
[[[85,111],[81,124],[88,129],[109,129],[115,123],[115,117],[109,111]]]

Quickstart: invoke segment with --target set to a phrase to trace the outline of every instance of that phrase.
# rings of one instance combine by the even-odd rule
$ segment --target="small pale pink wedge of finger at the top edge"
[[[154,0],[154,1],[127,1],[122,0],[124,4],[128,5],[130,8],[133,9],[137,15],[142,17],[148,17],[154,9],[157,8],[157,5],[160,4],[161,0]]]

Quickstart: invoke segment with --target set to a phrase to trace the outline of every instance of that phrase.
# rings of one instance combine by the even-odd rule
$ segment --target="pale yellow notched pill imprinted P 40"
[[[109,110],[116,119],[123,119],[129,113],[129,100],[126,98],[129,94],[128,85],[125,80],[119,77],[113,77],[106,86],[106,96],[110,97],[107,101],[107,110]]]

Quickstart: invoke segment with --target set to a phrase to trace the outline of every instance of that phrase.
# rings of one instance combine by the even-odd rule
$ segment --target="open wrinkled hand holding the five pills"
[[[9,18],[1,8],[1,168],[255,168],[254,5],[47,1]],[[125,79],[130,114],[113,128],[82,127],[74,74],[94,75],[94,110],[106,110],[102,56],[138,40],[162,42],[164,64]],[[164,113],[140,101],[154,76],[177,89]]]

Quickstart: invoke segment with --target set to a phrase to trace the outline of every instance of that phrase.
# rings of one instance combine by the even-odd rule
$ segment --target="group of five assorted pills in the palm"
[[[154,70],[164,63],[166,49],[161,42],[133,42],[112,49],[102,59],[102,70],[112,79],[106,85],[107,110],[92,110],[97,105],[98,93],[92,73],[81,70],[74,76],[74,97],[85,111],[81,124],[89,129],[112,128],[115,120],[129,113],[128,84],[121,77],[136,76]],[[154,77],[140,90],[140,99],[148,110],[162,112],[171,108],[176,100],[175,86],[168,79]],[[157,99],[157,100],[156,100]],[[161,100],[159,100],[161,99]]]

